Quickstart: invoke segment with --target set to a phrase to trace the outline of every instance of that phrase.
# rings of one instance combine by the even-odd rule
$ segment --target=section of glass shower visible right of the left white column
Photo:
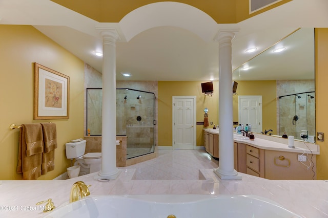
[[[116,89],[116,135],[127,136],[127,159],[154,152],[155,94]]]

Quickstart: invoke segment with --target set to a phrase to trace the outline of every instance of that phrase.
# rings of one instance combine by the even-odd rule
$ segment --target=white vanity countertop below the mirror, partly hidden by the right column
[[[211,128],[204,128],[206,132],[212,134],[219,134],[218,129],[211,129]],[[320,154],[320,147],[317,144],[306,143],[302,141],[295,141],[294,145],[295,148],[288,147],[288,140],[272,137],[272,136],[261,136],[261,134],[254,134],[254,140],[241,140],[241,139],[234,139],[234,142],[248,144],[259,149],[264,150],[278,150],[278,151],[287,151],[287,152],[297,152],[303,153],[304,151],[308,154],[319,155]],[[282,143],[284,142],[284,143]]]

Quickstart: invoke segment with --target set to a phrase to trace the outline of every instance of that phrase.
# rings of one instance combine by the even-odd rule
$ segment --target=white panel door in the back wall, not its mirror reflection
[[[173,96],[173,148],[194,149],[195,96]]]

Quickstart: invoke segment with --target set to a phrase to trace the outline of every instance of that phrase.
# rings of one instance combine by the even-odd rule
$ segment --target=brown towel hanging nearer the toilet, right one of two
[[[42,154],[42,175],[55,169],[55,148],[57,132],[55,123],[41,123],[43,129],[45,152]]]

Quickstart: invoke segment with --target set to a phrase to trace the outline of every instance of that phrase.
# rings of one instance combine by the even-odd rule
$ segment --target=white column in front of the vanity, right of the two
[[[220,179],[241,179],[234,169],[233,106],[232,106],[232,39],[238,30],[223,29],[219,42],[219,167],[214,169]]]

